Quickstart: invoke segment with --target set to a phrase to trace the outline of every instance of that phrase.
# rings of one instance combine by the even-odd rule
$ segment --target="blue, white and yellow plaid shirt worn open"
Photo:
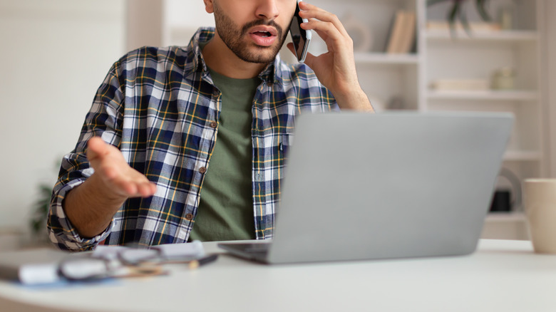
[[[53,189],[48,234],[59,248],[88,250],[101,241],[145,246],[187,241],[222,105],[198,44],[212,36],[214,29],[200,28],[187,48],[140,48],[110,68]],[[288,65],[277,56],[259,78],[252,103],[252,202],[256,237],[270,239],[294,115],[338,107],[304,64]],[[94,172],[86,158],[93,136],[118,147],[157,191],[153,197],[128,199],[103,233],[86,239],[66,217],[63,199]]]

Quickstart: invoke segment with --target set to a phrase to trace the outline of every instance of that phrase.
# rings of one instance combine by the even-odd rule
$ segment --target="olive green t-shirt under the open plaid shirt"
[[[251,108],[261,80],[209,71],[222,94],[222,110],[190,240],[254,239]]]

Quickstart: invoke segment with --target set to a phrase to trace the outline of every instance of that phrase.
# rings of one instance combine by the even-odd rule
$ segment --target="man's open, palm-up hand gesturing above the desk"
[[[156,185],[130,167],[116,147],[106,144],[100,137],[92,137],[87,147],[87,158],[95,170],[94,175],[103,182],[107,196],[125,200],[155,194]]]

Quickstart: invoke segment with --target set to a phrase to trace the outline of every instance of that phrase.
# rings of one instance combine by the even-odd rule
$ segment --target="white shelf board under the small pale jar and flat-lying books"
[[[503,90],[478,90],[478,91],[444,91],[428,90],[427,98],[430,100],[537,100],[537,91],[503,91]]]

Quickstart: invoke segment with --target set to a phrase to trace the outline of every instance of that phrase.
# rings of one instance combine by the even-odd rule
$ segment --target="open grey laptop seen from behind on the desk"
[[[299,115],[274,236],[218,246],[267,264],[475,251],[510,113]]]

